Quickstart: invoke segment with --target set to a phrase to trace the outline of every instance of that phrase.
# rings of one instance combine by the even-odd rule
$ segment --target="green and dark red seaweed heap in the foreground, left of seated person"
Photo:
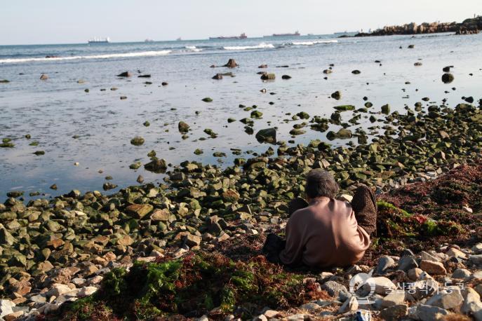
[[[65,319],[92,320],[101,313],[111,319],[152,320],[156,317],[199,317],[213,308],[233,313],[238,306],[253,317],[253,308],[300,305],[303,275],[285,273],[265,257],[248,263],[222,254],[200,252],[183,259],[135,262],[130,271],[114,268],[98,292],[67,307]]]

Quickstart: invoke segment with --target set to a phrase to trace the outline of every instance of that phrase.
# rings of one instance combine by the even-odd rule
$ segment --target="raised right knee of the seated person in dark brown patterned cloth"
[[[358,225],[368,235],[377,235],[377,200],[373,191],[367,186],[359,186],[352,200]]]

